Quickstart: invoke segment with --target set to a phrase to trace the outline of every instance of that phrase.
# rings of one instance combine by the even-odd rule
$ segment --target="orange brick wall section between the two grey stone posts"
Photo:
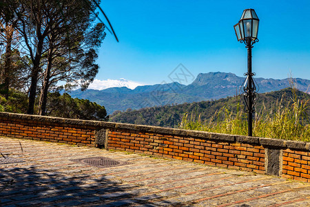
[[[230,140],[219,140],[218,134],[207,135],[208,138],[201,139],[192,136],[118,130],[108,132],[107,143],[108,148],[115,150],[265,173],[265,150],[262,146],[232,142],[230,141],[234,139],[232,135],[225,136],[232,138]]]

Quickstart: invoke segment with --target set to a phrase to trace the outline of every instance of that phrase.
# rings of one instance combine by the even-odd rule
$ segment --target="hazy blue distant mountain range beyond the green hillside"
[[[136,110],[152,106],[165,106],[194,101],[221,99],[239,94],[239,88],[245,77],[238,77],[233,73],[208,72],[200,73],[193,83],[183,84],[165,83],[153,86],[138,86],[134,90],[121,88],[107,88],[105,90],[73,90],[70,95],[74,98],[89,99],[105,106],[107,114],[116,110]],[[289,79],[257,78],[259,92],[271,92],[288,88]],[[308,79],[294,79],[298,90],[307,92],[310,85]]]

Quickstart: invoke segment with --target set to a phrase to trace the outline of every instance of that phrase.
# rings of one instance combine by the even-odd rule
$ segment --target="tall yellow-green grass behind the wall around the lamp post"
[[[265,103],[256,112],[253,122],[253,135],[256,137],[271,137],[278,139],[290,139],[310,141],[310,113],[309,96],[300,99],[298,91],[292,89],[291,101],[286,100],[286,93],[267,108]],[[238,108],[238,106],[237,106]],[[180,128],[191,130],[205,130],[233,135],[247,135],[247,114],[242,110],[233,112],[224,106],[214,113],[218,117],[216,121],[201,121],[200,117],[189,117],[186,114],[180,124]]]

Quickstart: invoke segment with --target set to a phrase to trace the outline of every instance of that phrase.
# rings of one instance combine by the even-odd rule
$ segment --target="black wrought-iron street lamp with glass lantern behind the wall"
[[[258,23],[259,19],[254,9],[246,9],[243,11],[240,21],[234,26],[236,36],[240,43],[245,43],[247,48],[247,73],[245,73],[245,81],[242,83],[242,96],[245,102],[247,117],[248,136],[252,136],[252,113],[258,98],[257,88],[252,73],[252,48],[253,44],[258,42]]]

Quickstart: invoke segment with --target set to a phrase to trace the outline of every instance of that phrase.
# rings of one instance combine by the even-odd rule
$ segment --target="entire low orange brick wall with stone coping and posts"
[[[310,182],[310,144],[195,130],[0,112],[0,135],[103,146]]]

